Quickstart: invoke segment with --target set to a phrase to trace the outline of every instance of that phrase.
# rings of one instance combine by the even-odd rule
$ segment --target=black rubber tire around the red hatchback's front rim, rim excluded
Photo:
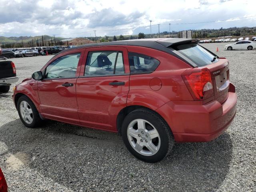
[[[31,107],[31,109],[32,109],[33,121],[32,121],[31,124],[26,123],[26,122],[23,120],[23,118],[22,118],[22,116],[21,116],[21,114],[20,114],[20,103],[21,103],[22,101],[28,102],[28,104],[30,105],[30,107]],[[37,111],[37,109],[36,109],[36,106],[35,106],[34,103],[33,103],[27,96],[25,96],[25,95],[21,96],[21,97],[18,99],[18,102],[17,102],[17,110],[18,110],[18,114],[19,114],[19,116],[20,116],[20,120],[21,120],[22,123],[23,123],[26,127],[28,127],[28,128],[35,128],[35,127],[37,127],[37,126],[42,122],[42,119],[41,119],[40,116],[39,116],[39,113],[38,113],[38,111]]]

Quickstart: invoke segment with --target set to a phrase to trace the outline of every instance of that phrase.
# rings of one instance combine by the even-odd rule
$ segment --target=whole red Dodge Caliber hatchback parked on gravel
[[[226,58],[197,39],[88,44],[54,56],[16,86],[23,124],[52,119],[119,132],[140,160],[162,160],[176,142],[206,142],[236,114]]]

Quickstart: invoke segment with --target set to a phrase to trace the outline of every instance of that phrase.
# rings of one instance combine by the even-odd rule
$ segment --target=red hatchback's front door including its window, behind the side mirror
[[[38,81],[42,115],[46,118],[79,124],[76,79],[81,51],[58,57],[44,69]],[[82,60],[82,59],[81,59]]]

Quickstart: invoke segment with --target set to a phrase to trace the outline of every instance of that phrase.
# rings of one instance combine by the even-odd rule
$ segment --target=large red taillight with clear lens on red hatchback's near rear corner
[[[196,70],[196,72],[188,70],[182,78],[194,99],[202,100],[214,96],[212,77],[208,69]]]

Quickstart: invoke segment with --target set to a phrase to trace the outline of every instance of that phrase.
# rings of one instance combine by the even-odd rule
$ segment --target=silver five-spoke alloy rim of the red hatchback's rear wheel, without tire
[[[144,119],[130,122],[127,137],[132,148],[144,156],[156,154],[160,148],[160,135],[156,128]]]

